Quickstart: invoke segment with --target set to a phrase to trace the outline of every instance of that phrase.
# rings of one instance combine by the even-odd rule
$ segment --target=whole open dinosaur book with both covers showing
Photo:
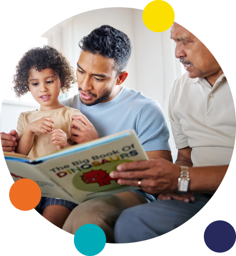
[[[73,145],[32,159],[3,152],[12,179],[32,179],[42,196],[80,204],[88,199],[138,187],[119,185],[109,173],[125,162],[148,160],[134,130]]]

